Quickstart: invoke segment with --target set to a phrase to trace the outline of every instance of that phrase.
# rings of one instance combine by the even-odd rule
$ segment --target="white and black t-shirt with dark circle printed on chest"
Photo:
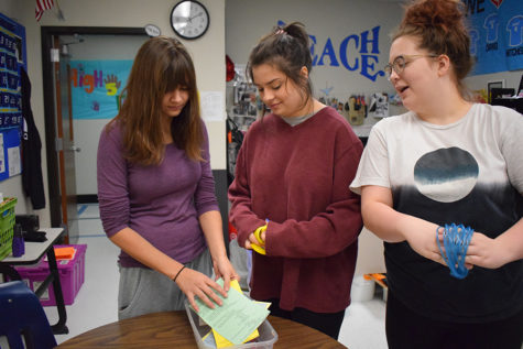
[[[366,185],[391,188],[400,212],[495,238],[523,216],[523,116],[472,105],[446,126],[414,112],[384,119],[371,131],[350,188],[360,193]],[[385,264],[394,296],[432,318],[483,323],[523,308],[522,260],[497,270],[475,266],[457,280],[406,242],[385,242]]]

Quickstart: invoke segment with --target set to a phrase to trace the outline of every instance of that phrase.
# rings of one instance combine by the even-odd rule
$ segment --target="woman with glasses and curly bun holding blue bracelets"
[[[469,100],[469,46],[460,1],[406,8],[385,72],[408,112],[372,129],[351,183],[384,240],[391,349],[521,349],[523,118]],[[458,265],[453,223],[475,231]]]

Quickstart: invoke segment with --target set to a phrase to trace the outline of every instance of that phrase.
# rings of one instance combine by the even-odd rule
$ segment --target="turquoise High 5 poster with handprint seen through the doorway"
[[[115,118],[132,62],[72,61],[73,119]]]

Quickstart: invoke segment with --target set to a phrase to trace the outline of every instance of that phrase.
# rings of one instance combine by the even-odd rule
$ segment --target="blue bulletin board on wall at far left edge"
[[[0,181],[22,172],[22,67],[26,70],[25,28],[0,13]]]

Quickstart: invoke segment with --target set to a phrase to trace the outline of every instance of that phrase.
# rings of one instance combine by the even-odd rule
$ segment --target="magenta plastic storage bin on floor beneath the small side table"
[[[55,248],[74,247],[75,255],[70,260],[57,260],[59,282],[62,285],[62,293],[64,295],[64,304],[72,305],[78,294],[85,280],[85,255],[87,244],[56,244]],[[22,280],[28,284],[32,291],[39,288],[40,284],[50,274],[50,268],[46,259],[43,259],[39,264],[31,266],[17,266]],[[44,291],[40,297],[40,303],[43,306],[56,305],[54,297],[53,283]]]

